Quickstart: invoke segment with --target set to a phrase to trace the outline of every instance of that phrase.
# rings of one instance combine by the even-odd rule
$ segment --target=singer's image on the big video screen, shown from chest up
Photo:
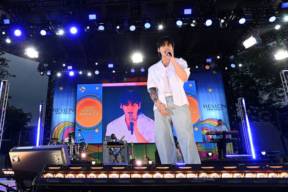
[[[106,135],[125,135],[128,143],[154,143],[154,121],[141,112],[141,94],[125,90],[120,95],[120,108],[124,115],[107,125]]]

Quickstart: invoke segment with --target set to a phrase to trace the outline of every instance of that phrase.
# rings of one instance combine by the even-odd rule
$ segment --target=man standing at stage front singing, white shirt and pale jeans
[[[154,102],[155,143],[162,164],[176,164],[172,125],[186,164],[200,164],[193,136],[188,99],[183,85],[190,71],[184,59],[174,58],[174,40],[161,37],[157,42],[161,60],[148,69],[147,89]]]

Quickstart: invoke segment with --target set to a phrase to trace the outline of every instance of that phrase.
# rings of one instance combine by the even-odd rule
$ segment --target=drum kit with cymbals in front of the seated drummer
[[[82,160],[87,161],[88,156],[88,144],[84,139],[78,137],[72,137],[75,140],[73,142],[65,142],[65,140],[59,142],[58,138],[46,138],[48,145],[67,145],[70,160]]]

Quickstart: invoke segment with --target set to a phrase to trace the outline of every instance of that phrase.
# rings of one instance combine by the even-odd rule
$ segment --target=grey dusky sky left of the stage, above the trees
[[[25,113],[32,113],[33,117],[28,125],[37,126],[39,116],[39,104],[46,103],[48,76],[41,76],[37,71],[39,62],[30,61],[8,53],[2,57],[9,59],[8,72],[16,75],[9,77],[10,82],[9,105],[23,109]]]

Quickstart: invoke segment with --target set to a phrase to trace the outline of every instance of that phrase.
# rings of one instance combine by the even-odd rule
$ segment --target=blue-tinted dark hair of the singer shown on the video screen
[[[142,102],[142,97],[141,94],[136,91],[136,90],[125,90],[121,93],[120,95],[120,104],[121,105],[128,105],[129,102],[131,104],[138,104],[138,106],[140,105],[140,103]],[[141,114],[141,110],[138,109],[138,115]]]

